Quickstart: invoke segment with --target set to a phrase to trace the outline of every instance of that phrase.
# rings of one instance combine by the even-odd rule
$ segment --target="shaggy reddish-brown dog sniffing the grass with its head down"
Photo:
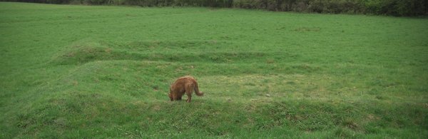
[[[171,101],[178,101],[181,100],[181,96],[186,93],[188,96],[186,102],[190,103],[193,91],[195,91],[197,96],[203,96],[203,92],[200,92],[198,89],[198,83],[195,78],[192,76],[183,76],[175,80],[175,82],[170,86],[170,93],[168,96]]]

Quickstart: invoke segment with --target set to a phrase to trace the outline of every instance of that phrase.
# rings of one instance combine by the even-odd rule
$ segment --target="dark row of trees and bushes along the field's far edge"
[[[45,4],[209,6],[329,14],[426,16],[428,0],[0,0]]]

